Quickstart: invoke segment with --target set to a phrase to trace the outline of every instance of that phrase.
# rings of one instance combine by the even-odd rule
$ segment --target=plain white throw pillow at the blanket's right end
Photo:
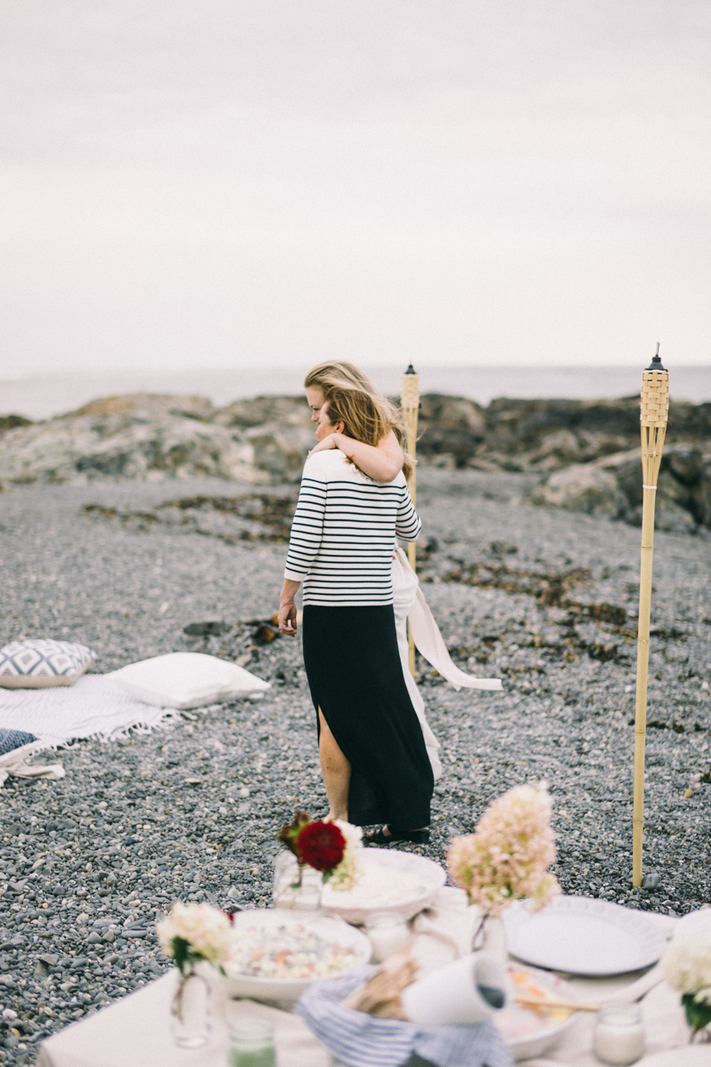
[[[171,652],[108,675],[126,692],[157,707],[201,707],[271,688],[243,667],[201,652]]]

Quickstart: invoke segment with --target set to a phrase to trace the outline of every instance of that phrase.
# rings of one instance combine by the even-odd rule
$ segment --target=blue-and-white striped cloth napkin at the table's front
[[[296,1015],[340,1063],[346,1067],[402,1067],[418,1055],[435,1067],[513,1067],[511,1053],[492,1022],[418,1026],[343,1007],[341,1001],[363,986],[375,970],[357,967],[343,977],[316,982],[296,1002]]]

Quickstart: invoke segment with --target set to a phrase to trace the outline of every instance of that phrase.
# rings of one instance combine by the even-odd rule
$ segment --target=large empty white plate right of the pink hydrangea
[[[566,974],[625,974],[656,964],[664,935],[640,911],[586,896],[555,896],[531,913],[522,901],[503,912],[508,952]]]

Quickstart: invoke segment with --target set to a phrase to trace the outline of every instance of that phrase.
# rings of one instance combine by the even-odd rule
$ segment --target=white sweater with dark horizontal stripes
[[[337,448],[304,465],[285,576],[304,583],[304,604],[392,604],[395,537],[421,523],[405,476],[372,481]]]

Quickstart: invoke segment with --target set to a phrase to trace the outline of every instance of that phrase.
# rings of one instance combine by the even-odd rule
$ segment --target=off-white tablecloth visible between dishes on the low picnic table
[[[457,923],[454,913],[441,918],[453,925]],[[670,922],[661,915],[649,918],[656,918],[660,924]],[[464,918],[460,922],[464,923]],[[427,951],[423,937],[416,941],[418,956],[435,951],[432,944]],[[569,977],[568,981],[581,1000],[598,1002],[629,986],[643,973],[613,978]],[[257,1016],[273,1023],[279,1067],[329,1067],[328,1052],[297,1016],[255,1001],[223,1001],[221,1004],[220,994],[215,998],[210,1045],[196,1050],[178,1048],[171,1035],[171,1001],[176,982],[177,972],[172,971],[91,1018],[47,1038],[41,1046],[39,1067],[223,1067],[228,1049],[223,1009],[235,1017]],[[677,992],[661,984],[647,993],[642,1003],[647,1054],[678,1048],[689,1040]],[[579,1013],[560,1045],[544,1058],[528,1061],[529,1067],[556,1064],[561,1067],[599,1067],[592,1051],[594,1024],[592,1013]],[[639,1067],[644,1067],[644,1060],[639,1061]]]

